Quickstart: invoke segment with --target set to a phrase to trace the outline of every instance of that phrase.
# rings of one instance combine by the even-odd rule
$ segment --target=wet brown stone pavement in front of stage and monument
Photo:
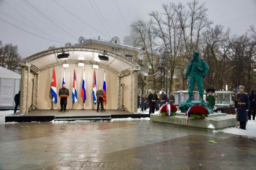
[[[256,170],[255,160],[254,138],[149,120],[0,124],[1,170]]]

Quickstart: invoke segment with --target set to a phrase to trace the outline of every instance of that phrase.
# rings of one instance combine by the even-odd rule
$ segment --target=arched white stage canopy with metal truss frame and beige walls
[[[69,53],[68,58],[58,59],[58,54],[62,52]],[[98,55],[104,53],[108,55],[108,61],[99,59]],[[84,63],[84,66],[78,66],[78,63]],[[63,64],[69,64],[69,67],[63,68]],[[93,65],[98,65],[99,68],[94,69]],[[32,108],[38,107],[39,109],[50,109],[52,107],[50,88],[53,69],[56,72],[57,93],[61,88],[63,72],[66,74],[66,84],[70,93],[67,108],[72,107],[74,70],[78,92],[78,102],[74,104],[74,109],[83,107],[80,92],[81,77],[84,70],[86,71],[87,93],[84,106],[85,109],[95,108],[92,102],[93,72],[95,70],[97,90],[102,87],[104,72],[106,72],[106,109],[117,109],[123,103],[128,111],[137,112],[137,72],[140,70],[140,66],[118,53],[85,46],[61,47],[27,57],[21,61],[21,66],[20,115],[26,115],[31,105],[34,105]],[[123,102],[122,97],[125,98]],[[53,106],[54,109],[60,108],[59,102],[60,98],[58,98],[57,105]]]

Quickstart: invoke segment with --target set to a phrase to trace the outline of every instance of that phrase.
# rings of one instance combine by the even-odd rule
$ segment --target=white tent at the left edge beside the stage
[[[13,109],[20,90],[20,74],[0,66],[0,109]]]

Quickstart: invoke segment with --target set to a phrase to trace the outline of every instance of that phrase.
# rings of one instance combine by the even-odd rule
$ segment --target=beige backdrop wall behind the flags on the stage
[[[55,74],[57,79],[57,93],[59,93],[59,89],[62,85],[62,78],[64,68],[62,65],[56,66]],[[51,108],[51,82],[53,77],[53,69],[50,68],[40,72],[39,75],[39,89],[38,89],[38,108],[39,109],[50,109]],[[81,98],[81,83],[82,83],[82,73],[85,69],[86,72],[86,97],[84,108],[92,109],[93,107],[93,97],[92,97],[92,89],[93,89],[93,73],[94,69],[92,65],[85,65],[84,67],[78,67],[75,64],[69,64],[69,67],[66,68],[66,85],[69,90],[69,98],[67,101],[67,109],[72,108],[72,86],[73,86],[73,72],[75,69],[76,74],[76,85],[77,85],[77,96],[78,102],[74,104],[74,109],[81,109],[83,105],[83,100]],[[96,71],[96,84],[97,90],[99,87],[103,87],[104,80],[104,71],[106,71],[106,86],[107,86],[107,105],[104,105],[105,109],[116,109],[117,108],[117,75],[113,72],[105,70],[101,67],[99,69],[95,69]],[[129,82],[130,83],[130,82]],[[32,86],[31,86],[32,87]],[[32,90],[32,88],[31,88]],[[130,100],[130,99],[129,99]],[[31,101],[30,101],[31,102]],[[30,104],[30,103],[29,103]],[[58,103],[54,104],[54,109],[60,109],[60,98],[58,97]],[[94,109],[96,109],[96,105],[94,105]]]

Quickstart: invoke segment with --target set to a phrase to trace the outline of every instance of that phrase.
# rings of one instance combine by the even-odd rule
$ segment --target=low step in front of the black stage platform
[[[89,121],[96,121],[96,120],[111,120],[110,116],[88,116],[88,117],[55,117],[54,121],[75,121],[75,120],[89,120]]]

